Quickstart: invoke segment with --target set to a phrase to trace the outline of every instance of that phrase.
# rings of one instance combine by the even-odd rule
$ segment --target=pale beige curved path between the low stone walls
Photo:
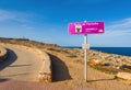
[[[9,57],[0,64],[0,78],[36,81],[41,60],[37,55],[23,48],[8,46]]]

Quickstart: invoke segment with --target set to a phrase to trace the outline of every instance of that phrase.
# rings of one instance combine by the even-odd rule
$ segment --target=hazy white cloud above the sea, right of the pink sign
[[[131,18],[114,21],[105,25],[105,33],[90,35],[94,46],[131,46]]]

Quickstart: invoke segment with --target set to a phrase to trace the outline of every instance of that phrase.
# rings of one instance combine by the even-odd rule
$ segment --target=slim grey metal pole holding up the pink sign
[[[84,35],[84,44],[87,44],[87,34]],[[87,82],[87,48],[85,50],[85,81]]]

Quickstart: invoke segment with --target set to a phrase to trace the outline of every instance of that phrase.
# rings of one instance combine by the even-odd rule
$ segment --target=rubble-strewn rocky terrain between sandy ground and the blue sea
[[[76,58],[74,61],[84,65],[83,49],[56,47],[56,48],[48,48],[48,50],[58,52],[68,57]],[[91,67],[94,67],[95,69],[105,71],[107,74],[117,74],[119,71],[131,72],[131,57],[107,54],[93,49],[88,50],[87,55],[88,55],[88,65]]]

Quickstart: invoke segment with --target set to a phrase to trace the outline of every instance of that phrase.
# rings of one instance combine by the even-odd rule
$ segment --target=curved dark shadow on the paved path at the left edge
[[[10,66],[12,63],[16,60],[16,58],[17,58],[16,54],[13,50],[8,49],[8,57],[4,61],[0,63],[0,70]]]

